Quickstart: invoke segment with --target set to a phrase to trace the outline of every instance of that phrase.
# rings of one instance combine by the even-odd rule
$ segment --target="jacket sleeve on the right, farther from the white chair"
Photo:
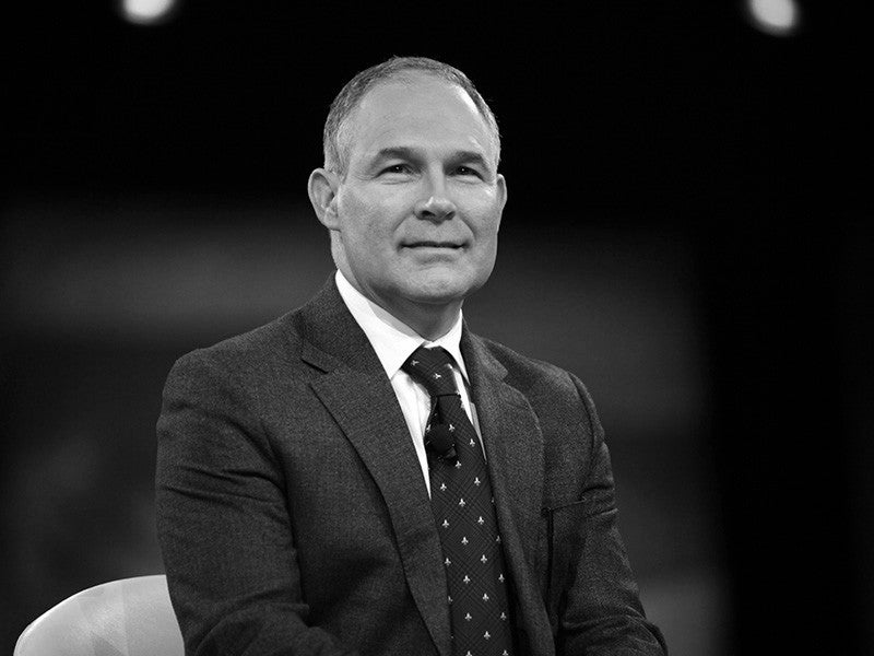
[[[616,525],[610,453],[589,394],[572,377],[589,448],[579,500],[547,509],[550,543],[567,562],[556,562],[557,653],[586,656],[657,656],[668,653],[647,621]]]

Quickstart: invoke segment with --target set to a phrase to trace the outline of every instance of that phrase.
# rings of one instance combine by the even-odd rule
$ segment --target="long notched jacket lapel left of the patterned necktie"
[[[302,358],[326,374],[311,386],[385,500],[410,591],[442,656],[451,654],[440,539],[410,431],[370,342],[333,279],[302,312]]]

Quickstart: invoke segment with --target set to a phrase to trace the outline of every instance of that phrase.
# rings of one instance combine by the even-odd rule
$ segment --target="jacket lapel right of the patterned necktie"
[[[544,477],[540,422],[524,395],[504,382],[507,370],[466,328],[461,348],[483,434],[504,553],[515,583],[520,610],[516,621],[531,636],[548,635],[548,618],[534,576]]]

